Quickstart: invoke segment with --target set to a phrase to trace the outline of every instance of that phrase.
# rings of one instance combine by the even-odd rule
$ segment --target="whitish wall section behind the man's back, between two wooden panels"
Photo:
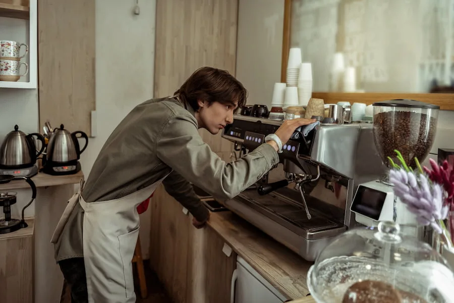
[[[153,97],[156,1],[96,0],[96,113],[97,134],[81,156],[90,173],[112,130],[137,104]],[[121,169],[121,168],[119,168]],[[141,215],[143,257],[149,256],[150,214]]]

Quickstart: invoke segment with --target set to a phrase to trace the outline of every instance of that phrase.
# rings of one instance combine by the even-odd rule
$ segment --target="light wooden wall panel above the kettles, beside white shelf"
[[[95,0],[38,1],[39,124],[91,133]]]

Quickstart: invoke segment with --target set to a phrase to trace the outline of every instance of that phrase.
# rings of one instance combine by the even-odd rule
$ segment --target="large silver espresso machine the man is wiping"
[[[254,150],[282,121],[235,115],[222,137],[243,155]],[[279,154],[282,179],[268,183],[271,170],[255,188],[224,201],[249,221],[308,261],[314,261],[335,236],[357,223],[351,215],[359,184],[385,171],[377,153],[372,124],[317,125],[289,140]],[[241,156],[241,155],[240,155]]]

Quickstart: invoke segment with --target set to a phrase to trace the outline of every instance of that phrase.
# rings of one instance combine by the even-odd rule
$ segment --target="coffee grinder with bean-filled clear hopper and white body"
[[[399,150],[405,162],[417,169],[415,158],[422,163],[435,139],[439,106],[409,99],[394,99],[373,104],[373,134],[383,163],[390,168],[388,157],[400,164]],[[356,190],[350,210],[358,223],[378,226],[379,221],[394,221],[417,226],[416,216],[394,196],[387,174],[379,180],[362,183]]]

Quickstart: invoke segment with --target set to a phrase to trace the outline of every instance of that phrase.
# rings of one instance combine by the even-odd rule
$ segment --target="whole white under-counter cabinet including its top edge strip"
[[[232,277],[232,303],[281,303],[287,299],[244,259],[237,258]]]

